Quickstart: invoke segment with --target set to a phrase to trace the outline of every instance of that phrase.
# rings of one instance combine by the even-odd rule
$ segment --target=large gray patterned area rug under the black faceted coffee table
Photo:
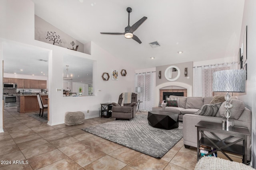
[[[148,124],[147,115],[136,115],[130,121],[116,120],[82,130],[155,158],[162,158],[183,137],[182,123],[176,129],[158,129]]]

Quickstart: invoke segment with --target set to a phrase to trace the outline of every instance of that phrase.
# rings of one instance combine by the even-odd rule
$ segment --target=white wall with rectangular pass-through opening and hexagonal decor
[[[118,96],[122,92],[134,92],[134,68],[112,56],[95,43],[90,43],[92,55],[88,55],[34,40],[34,4],[30,0],[1,0],[0,24],[0,61],[3,59],[2,42],[4,41],[10,43],[18,41],[50,51],[48,60],[49,125],[64,123],[66,111],[82,111],[85,113],[86,119],[98,117],[101,103],[117,102]],[[95,96],[63,97],[62,92],[56,92],[56,88],[63,88],[62,61],[64,55],[67,54],[94,60],[93,93]],[[117,81],[102,80],[102,73],[108,72],[111,75],[112,69],[118,70],[118,72],[125,69],[127,75],[121,76],[119,73]],[[2,64],[0,64],[1,72]],[[2,80],[2,74],[0,74],[0,79]],[[100,89],[101,92],[97,92],[97,89]],[[2,88],[0,88],[0,98],[2,98]],[[0,108],[2,108],[1,102]],[[0,131],[3,129],[2,120],[2,109],[0,109]]]

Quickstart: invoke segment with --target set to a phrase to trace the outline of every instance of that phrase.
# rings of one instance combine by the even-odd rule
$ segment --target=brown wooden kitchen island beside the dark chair
[[[40,94],[44,104],[47,104],[48,94]],[[17,111],[26,113],[30,111],[40,111],[36,93],[17,94]]]

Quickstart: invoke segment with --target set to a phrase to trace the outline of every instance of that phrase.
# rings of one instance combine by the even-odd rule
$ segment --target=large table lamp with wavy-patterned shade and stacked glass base
[[[225,95],[226,108],[225,117],[226,120],[222,120],[222,128],[234,129],[234,121],[230,121],[231,116],[230,108],[230,94],[229,92],[245,92],[246,83],[246,70],[221,70],[213,73],[212,80],[212,91],[213,92],[227,92]]]

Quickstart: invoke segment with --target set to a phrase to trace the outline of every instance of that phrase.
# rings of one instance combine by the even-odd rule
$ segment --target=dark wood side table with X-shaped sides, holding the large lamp
[[[197,161],[202,157],[200,155],[200,145],[206,145],[208,147],[213,147],[216,150],[209,152],[206,156],[221,151],[229,160],[233,161],[224,151],[241,154],[243,155],[243,163],[247,163],[247,137],[251,136],[248,128],[234,127],[234,129],[222,129],[221,123],[213,123],[207,121],[200,121],[196,124],[197,127]],[[216,139],[210,139],[204,131],[210,132]],[[199,133],[202,137],[199,139]],[[228,135],[225,139],[220,139],[216,134]],[[238,140],[228,143],[234,137],[238,137]],[[236,143],[243,141],[243,145],[237,145]],[[218,156],[218,155],[217,155]]]

